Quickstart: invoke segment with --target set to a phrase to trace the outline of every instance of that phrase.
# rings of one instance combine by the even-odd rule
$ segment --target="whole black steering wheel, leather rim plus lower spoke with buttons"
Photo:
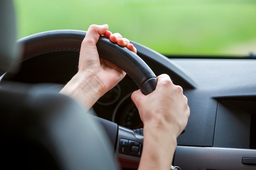
[[[74,51],[79,53],[85,34],[86,31],[57,30],[22,38],[18,40],[18,43],[24,47],[22,60],[31,60],[39,55],[55,52]],[[155,90],[157,77],[138,55],[103,36],[99,38],[97,49],[100,57],[122,68],[144,95]],[[115,150],[115,157],[119,159],[121,167],[137,168],[143,147],[143,135],[99,117],[93,117],[93,119],[96,119],[106,130]]]

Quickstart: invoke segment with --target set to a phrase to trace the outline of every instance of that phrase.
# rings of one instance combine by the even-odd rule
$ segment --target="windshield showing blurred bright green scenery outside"
[[[164,55],[256,54],[256,0],[14,0],[18,39],[55,29],[109,30]]]

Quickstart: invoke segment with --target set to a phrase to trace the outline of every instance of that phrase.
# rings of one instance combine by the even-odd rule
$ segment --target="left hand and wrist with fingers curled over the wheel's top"
[[[60,92],[73,97],[87,109],[92,107],[102,95],[117,85],[126,75],[115,64],[99,58],[96,44],[100,35],[137,53],[136,48],[130,44],[128,39],[123,38],[119,33],[112,34],[108,31],[107,24],[89,27],[81,44],[79,71]]]

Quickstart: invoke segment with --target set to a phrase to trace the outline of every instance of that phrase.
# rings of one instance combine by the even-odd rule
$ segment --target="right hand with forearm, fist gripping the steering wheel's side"
[[[190,115],[182,87],[174,85],[168,75],[162,74],[157,77],[155,91],[143,95],[138,90],[132,93],[131,98],[144,123],[139,170],[170,170],[177,137],[184,130]]]

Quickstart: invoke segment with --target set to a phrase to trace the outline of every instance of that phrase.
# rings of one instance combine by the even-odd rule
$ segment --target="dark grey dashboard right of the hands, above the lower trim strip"
[[[247,148],[255,148],[255,133],[252,132],[255,132],[256,60],[172,60],[198,83],[196,89],[184,90],[189,99],[191,116],[187,125],[188,136],[181,135],[178,139],[180,144],[186,145],[189,140],[189,145],[193,146],[195,140],[202,146],[224,146],[222,143],[228,143],[226,147],[246,148],[239,143],[247,141]],[[226,111],[221,109],[222,106]],[[245,133],[247,138],[244,138]],[[217,140],[220,140],[218,135],[221,134],[220,142]]]

